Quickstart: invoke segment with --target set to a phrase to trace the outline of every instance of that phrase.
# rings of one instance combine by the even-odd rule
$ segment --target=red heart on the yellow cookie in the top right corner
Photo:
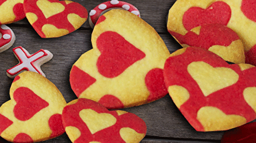
[[[227,25],[231,17],[229,5],[222,1],[212,3],[207,9],[191,7],[183,15],[183,25],[187,31],[203,24]]]

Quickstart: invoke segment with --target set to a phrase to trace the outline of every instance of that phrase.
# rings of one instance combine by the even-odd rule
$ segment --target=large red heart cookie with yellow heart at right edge
[[[197,47],[180,49],[166,60],[170,97],[197,131],[238,127],[256,118],[256,67],[229,65]]]

